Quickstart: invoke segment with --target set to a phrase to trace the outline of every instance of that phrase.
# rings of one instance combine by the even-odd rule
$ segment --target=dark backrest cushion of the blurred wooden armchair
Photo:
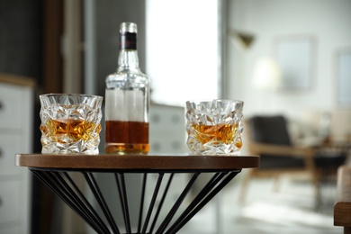
[[[256,142],[291,146],[284,116],[255,116],[250,119],[249,130]]]

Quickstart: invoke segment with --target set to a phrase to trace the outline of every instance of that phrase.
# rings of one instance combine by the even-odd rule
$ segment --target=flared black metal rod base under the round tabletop
[[[92,201],[88,202],[85,194],[76,185],[72,176],[68,175],[64,171],[52,171],[52,170],[36,170],[31,168],[34,175],[37,175],[40,180],[49,186],[49,188],[67,203],[78,215],[80,215],[97,233],[124,233],[121,232],[123,227],[119,227],[116,222],[116,217],[113,217],[111,209],[114,207],[109,206],[109,203],[105,200],[103,192],[97,184],[94,172],[82,171],[81,174],[85,178],[85,183],[94,194],[94,201],[96,201],[103,211],[103,216],[107,221],[103,221],[101,218],[102,214],[99,214]],[[147,188],[147,177],[148,173],[141,172],[143,175],[142,184],[140,188],[140,204],[139,204],[139,216],[138,216],[138,228],[133,230],[130,225],[130,210],[128,201],[128,190],[125,184],[125,174],[123,172],[106,172],[114,176],[116,181],[116,187],[118,196],[121,202],[121,213],[124,219],[124,229],[126,234],[174,234],[179,229],[183,228],[184,225],[193,218],[193,216],[200,211],[204,205],[211,201],[211,199],[220,192],[220,190],[234,178],[235,175],[241,170],[235,171],[224,171],[213,173],[209,181],[203,186],[202,190],[195,195],[193,200],[183,207],[184,199],[193,188],[194,182],[198,179],[201,172],[193,172],[193,176],[190,178],[187,184],[184,184],[183,191],[180,192],[178,198],[175,200],[169,211],[166,211],[166,217],[160,217],[160,212],[164,209],[164,203],[169,202],[167,200],[167,193],[169,188],[179,186],[179,184],[173,184],[173,178],[177,175],[176,172],[159,172],[157,182],[153,188],[153,193],[150,202],[145,202],[145,194]],[[79,172],[72,172],[79,173]],[[209,173],[209,172],[204,172]],[[164,175],[169,175],[168,180],[164,186],[161,186]],[[162,190],[163,188],[163,190]],[[106,193],[106,192],[105,192]],[[160,195],[160,200],[157,204],[157,197]],[[182,209],[180,209],[183,207]],[[146,213],[144,214],[144,208]],[[178,214],[179,213],[179,214]],[[175,215],[176,214],[176,215]],[[159,220],[160,224],[157,224]],[[157,226],[158,225],[158,226]]]

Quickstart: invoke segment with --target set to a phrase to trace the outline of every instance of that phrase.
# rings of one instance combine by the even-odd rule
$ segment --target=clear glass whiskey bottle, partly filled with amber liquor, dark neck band
[[[106,77],[105,152],[148,154],[149,80],[139,68],[137,24],[121,23],[117,71]]]

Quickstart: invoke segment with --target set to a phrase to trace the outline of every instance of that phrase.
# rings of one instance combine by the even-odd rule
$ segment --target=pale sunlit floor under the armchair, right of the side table
[[[316,209],[312,186],[303,177],[285,177],[277,193],[273,192],[273,180],[254,180],[249,184],[246,202],[240,203],[243,176],[244,171],[178,233],[343,233],[341,227],[333,226],[335,181],[323,186],[322,202]]]

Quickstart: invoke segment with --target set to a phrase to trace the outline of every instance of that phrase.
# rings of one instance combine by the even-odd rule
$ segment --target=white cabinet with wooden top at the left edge
[[[14,155],[31,153],[32,87],[0,74],[0,234],[31,231],[31,176]]]

